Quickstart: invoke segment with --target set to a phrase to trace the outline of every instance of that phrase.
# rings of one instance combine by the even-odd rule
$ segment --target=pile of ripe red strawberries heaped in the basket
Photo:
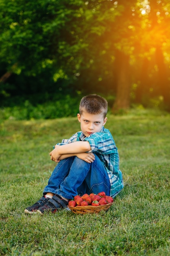
[[[84,194],[82,196],[76,195],[74,196],[74,199],[70,200],[68,202],[68,206],[70,207],[76,207],[76,206],[99,206],[99,205],[105,205],[108,203],[112,203],[113,198],[109,195],[106,195],[104,191],[99,192],[97,195],[94,193],[91,194]]]

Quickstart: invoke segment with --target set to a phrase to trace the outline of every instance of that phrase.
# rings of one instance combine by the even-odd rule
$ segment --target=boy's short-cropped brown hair
[[[83,110],[89,114],[100,114],[103,112],[104,118],[107,114],[107,100],[97,94],[89,94],[83,97],[80,101],[79,113],[82,114]]]

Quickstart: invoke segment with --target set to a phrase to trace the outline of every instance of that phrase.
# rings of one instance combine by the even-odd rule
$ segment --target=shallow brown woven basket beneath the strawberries
[[[99,205],[99,206],[88,205],[88,206],[76,206],[76,207],[68,206],[68,207],[74,213],[85,214],[85,213],[99,213],[102,210],[107,211],[112,204],[113,203]]]

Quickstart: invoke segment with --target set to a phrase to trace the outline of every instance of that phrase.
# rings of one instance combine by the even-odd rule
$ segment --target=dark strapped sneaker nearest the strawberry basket
[[[55,213],[56,211],[59,211],[61,209],[66,210],[67,208],[68,208],[67,201],[61,198],[60,195],[53,195],[52,198],[49,198],[48,201],[46,201],[41,207],[39,207],[37,212],[43,215],[45,212]]]

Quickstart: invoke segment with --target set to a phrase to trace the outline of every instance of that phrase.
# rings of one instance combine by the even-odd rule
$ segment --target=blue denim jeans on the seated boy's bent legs
[[[54,168],[48,185],[43,193],[61,195],[67,199],[85,193],[105,191],[110,195],[110,181],[105,166],[97,155],[93,163],[87,163],[78,157],[61,160]]]

